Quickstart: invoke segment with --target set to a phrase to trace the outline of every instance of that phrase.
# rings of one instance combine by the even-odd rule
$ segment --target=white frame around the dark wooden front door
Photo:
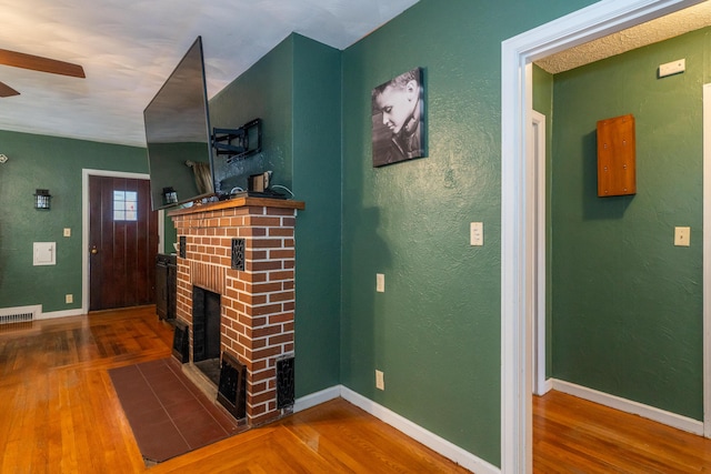
[[[126,171],[81,170],[81,312],[89,313],[89,177],[127,178],[131,180],[149,180],[146,173]],[[163,225],[158,216],[158,251],[163,242]]]

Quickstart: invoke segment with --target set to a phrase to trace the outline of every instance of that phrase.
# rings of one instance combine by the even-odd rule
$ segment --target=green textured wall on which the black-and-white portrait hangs
[[[501,41],[589,3],[422,0],[343,53],[341,381],[493,464]],[[373,169],[370,92],[414,67],[424,68],[429,157]],[[469,246],[472,221],[484,223],[482,248]]]

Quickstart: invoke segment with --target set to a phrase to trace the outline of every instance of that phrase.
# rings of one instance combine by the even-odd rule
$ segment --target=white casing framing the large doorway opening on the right
[[[501,43],[501,472],[532,471],[531,321],[532,274],[528,249],[534,220],[525,162],[525,65],[535,59],[700,3],[701,0],[602,0]]]

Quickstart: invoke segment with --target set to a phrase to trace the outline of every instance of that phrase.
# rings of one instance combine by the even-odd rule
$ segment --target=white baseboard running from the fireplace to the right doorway
[[[414,441],[422,443],[427,447],[442,456],[455,462],[462,467],[465,467],[477,474],[501,474],[501,470],[480,457],[477,457],[472,453],[462,450],[455,444],[444,440],[443,437],[423,428],[420,425],[412,423],[410,420],[392,412],[389,409],[373,402],[363,395],[353,392],[352,390],[337,385],[331,389],[317,392],[311,395],[298,399],[294,403],[294,412],[306,410],[307,407],[316,406],[320,403],[328,402],[337,397],[342,397],[353,405],[370,413],[377,418],[388,423],[395,430],[404,433]]]

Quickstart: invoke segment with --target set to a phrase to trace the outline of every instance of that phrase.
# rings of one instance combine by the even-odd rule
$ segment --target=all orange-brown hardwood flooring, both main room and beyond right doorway
[[[0,472],[467,472],[342,400],[147,468],[107,371],[171,345],[152,306],[0,325]],[[710,440],[559,392],[533,438],[535,473],[711,472]]]

